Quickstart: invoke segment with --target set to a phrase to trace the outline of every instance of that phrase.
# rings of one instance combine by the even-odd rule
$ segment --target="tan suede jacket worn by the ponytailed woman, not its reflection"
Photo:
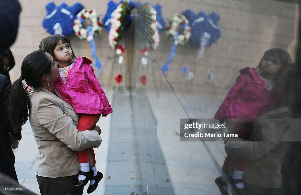
[[[39,150],[36,175],[49,178],[76,175],[79,161],[75,151],[101,144],[96,131],[77,131],[79,116],[55,89],[54,92],[57,96],[43,88],[33,88],[29,95],[29,122]]]

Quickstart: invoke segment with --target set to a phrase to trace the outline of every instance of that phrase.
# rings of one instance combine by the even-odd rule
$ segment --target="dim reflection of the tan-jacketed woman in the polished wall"
[[[285,71],[284,75],[287,73],[288,71]],[[258,132],[253,136],[254,141],[236,142],[235,139],[230,139],[225,145],[228,155],[236,155],[248,160],[244,172],[248,195],[276,195],[282,185],[281,166],[287,153],[288,142],[281,142],[285,132],[283,129],[279,131],[281,125],[278,120],[286,121],[285,119],[290,116],[290,109],[283,77],[278,83],[277,104],[254,121],[254,130],[257,130],[254,132]]]

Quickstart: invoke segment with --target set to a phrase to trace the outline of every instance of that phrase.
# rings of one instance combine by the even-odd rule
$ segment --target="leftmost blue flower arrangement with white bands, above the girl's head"
[[[83,6],[80,3],[75,3],[72,6],[62,3],[57,7],[54,2],[50,2],[46,5],[47,15],[44,17],[42,25],[50,34],[58,33],[70,36],[73,34],[74,18],[82,8]]]

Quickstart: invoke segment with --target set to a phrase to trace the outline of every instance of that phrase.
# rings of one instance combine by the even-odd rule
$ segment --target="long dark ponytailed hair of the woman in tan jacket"
[[[27,92],[24,90],[22,79],[32,87],[41,86],[41,78],[51,71],[51,61],[46,52],[34,51],[24,58],[21,67],[21,77],[11,87],[9,103],[9,118],[17,131],[26,123],[30,115],[31,103]]]

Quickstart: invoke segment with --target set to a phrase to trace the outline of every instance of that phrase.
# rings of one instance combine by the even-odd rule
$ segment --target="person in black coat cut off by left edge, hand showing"
[[[18,181],[12,148],[18,147],[18,140],[21,140],[22,136],[20,130],[18,132],[14,131],[11,122],[8,120],[10,92],[11,84],[8,78],[0,74],[0,172]]]

